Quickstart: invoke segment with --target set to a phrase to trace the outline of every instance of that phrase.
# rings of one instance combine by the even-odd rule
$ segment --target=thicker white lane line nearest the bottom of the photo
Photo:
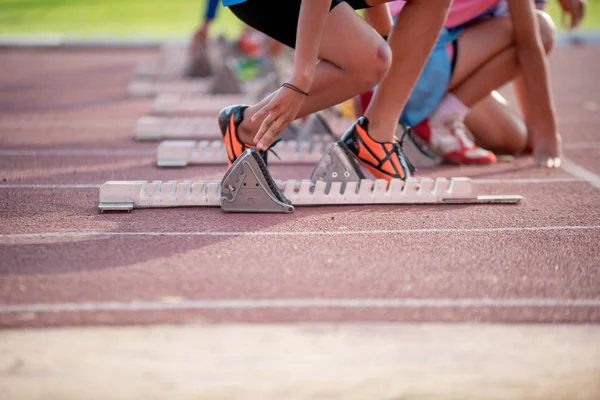
[[[281,308],[488,308],[488,307],[600,307],[600,299],[555,298],[406,298],[406,299],[239,299],[183,300],[180,302],[132,301],[97,303],[6,304],[0,313],[23,312],[94,312],[94,311],[173,311]]]

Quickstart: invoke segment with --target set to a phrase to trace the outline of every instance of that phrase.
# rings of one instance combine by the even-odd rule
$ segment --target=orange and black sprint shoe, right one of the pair
[[[367,133],[369,120],[360,117],[340,139],[341,144],[366,167],[376,179],[406,180],[414,168],[402,152],[401,142],[377,142]]]

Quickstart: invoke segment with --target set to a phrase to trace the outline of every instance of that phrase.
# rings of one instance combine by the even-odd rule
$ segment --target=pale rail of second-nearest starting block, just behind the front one
[[[331,141],[282,141],[275,147],[278,157],[271,157],[269,161],[272,164],[315,164],[331,144]],[[158,146],[156,165],[186,167],[226,162],[223,140],[165,140]]]

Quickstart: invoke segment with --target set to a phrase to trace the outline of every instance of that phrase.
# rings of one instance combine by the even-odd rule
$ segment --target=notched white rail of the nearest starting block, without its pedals
[[[477,196],[469,178],[313,183],[311,180],[275,181],[294,206],[357,204],[477,204],[519,203],[521,196]],[[100,188],[99,209],[219,207],[220,181],[109,181]]]

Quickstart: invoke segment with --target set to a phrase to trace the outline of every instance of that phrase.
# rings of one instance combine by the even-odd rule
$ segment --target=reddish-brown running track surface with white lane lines
[[[600,47],[551,58],[568,168],[522,157],[419,171],[472,177],[520,205],[101,214],[106,180],[225,172],[158,169],[157,143],[133,140],[152,99],[129,98],[127,84],[156,55],[0,52],[0,326],[600,322]]]

